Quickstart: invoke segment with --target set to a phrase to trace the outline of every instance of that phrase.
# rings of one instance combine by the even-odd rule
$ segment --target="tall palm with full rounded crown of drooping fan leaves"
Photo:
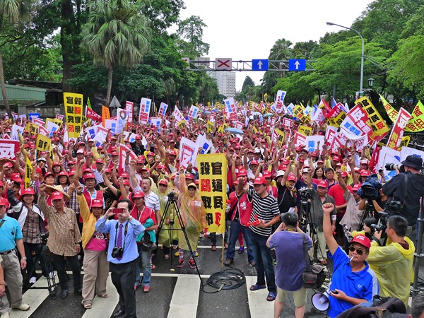
[[[141,62],[151,38],[148,20],[141,13],[142,1],[100,0],[88,5],[83,26],[83,45],[93,54],[94,64],[107,67],[106,105],[109,106],[114,66],[134,67]]]

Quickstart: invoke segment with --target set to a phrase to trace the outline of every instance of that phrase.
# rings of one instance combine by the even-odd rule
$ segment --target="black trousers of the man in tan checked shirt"
[[[51,253],[54,266],[57,270],[57,276],[59,277],[60,288],[62,290],[68,289],[68,276],[66,275],[66,261],[71,266],[72,278],[73,278],[73,290],[81,289],[81,268],[79,266],[78,255],[73,257],[65,257],[63,255],[57,255]]]

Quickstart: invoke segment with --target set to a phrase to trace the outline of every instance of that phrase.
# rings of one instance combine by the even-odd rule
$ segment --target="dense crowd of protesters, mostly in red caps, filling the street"
[[[187,114],[188,110],[183,112]],[[120,306],[113,317],[121,317],[125,312],[129,314],[126,317],[135,317],[134,307],[129,302],[134,301],[132,295],[140,285],[144,293],[151,290],[154,257],[167,260],[175,255],[179,257],[177,267],[186,264],[184,250],[187,251],[188,246],[182,232],[175,231],[172,235],[172,232],[162,230],[158,233],[158,225],[164,217],[164,229],[169,228],[171,220],[176,227],[179,224],[173,209],[164,215],[167,195],[171,192],[175,192],[193,250],[187,265],[194,269],[194,257],[199,254],[201,257],[196,248],[199,234],[206,227],[204,202],[198,189],[199,173],[196,167],[192,164],[187,169],[179,167],[179,143],[182,137],[196,141],[199,135],[204,135],[211,142],[208,153],[225,153],[228,161],[230,204],[226,220],[230,233],[225,235],[225,249],[228,248],[225,264],[235,262],[235,244],[238,240],[238,254],[247,250],[249,264],[257,270],[258,281],[250,290],[268,288],[266,300],[269,301],[275,300],[277,290],[282,293],[286,286],[289,288],[285,292],[299,290],[298,283],[278,285],[281,281],[278,275],[283,274],[274,272],[273,262],[278,264],[278,259],[284,254],[281,250],[274,254],[271,252],[270,247],[275,247],[279,242],[275,237],[271,245],[267,243],[275,230],[290,228],[299,234],[302,232],[293,223],[293,217],[283,218],[283,223],[290,219],[290,224],[281,225],[281,214],[295,213],[300,225],[309,224],[316,230],[317,244],[313,245],[311,256],[317,261],[324,265],[327,263],[326,243],[330,247],[330,257],[337,257],[341,261],[344,258],[338,255],[340,253],[346,255],[347,252],[355,257],[363,255],[356,259],[356,271],[375,269],[380,294],[395,296],[403,301],[407,299],[406,290],[408,278],[411,278],[416,242],[417,204],[424,194],[424,182],[419,173],[423,163],[418,156],[408,156],[402,163],[406,171],[385,182],[382,172],[375,173],[377,163],[372,160],[372,154],[379,150],[375,144],[357,146],[355,141],[346,141],[344,146],[331,151],[324,139],[324,145],[319,147],[318,144],[310,152],[305,145],[295,146],[297,124],[286,127],[280,119],[271,123],[253,117],[247,111],[245,115],[239,115],[251,118],[242,129],[243,134],[232,134],[231,131],[218,129],[225,124],[225,118],[219,112],[216,113],[215,128],[208,129],[205,122],[208,121],[209,112],[201,112],[198,118],[184,127],[179,127],[172,115],[165,117],[168,120],[163,120],[158,127],[128,123],[126,131],[136,135],[134,141],[129,140],[129,135],[125,137],[123,133],[114,134],[109,130],[105,142],[97,145],[86,132],[76,140],[65,140],[66,125],[63,124],[52,134],[50,151],[36,151],[37,134],[31,129],[23,131],[16,159],[0,158],[0,255],[11,295],[11,307],[29,309],[29,305],[22,302],[22,284],[35,283],[37,280],[37,274],[33,271],[37,264],[34,264],[33,257],[42,249],[40,234],[49,232],[47,247],[59,278],[60,298],[68,296],[66,261],[73,272],[73,293],[83,296],[81,303],[86,309],[91,308],[95,295],[107,298],[106,279],[109,271],[112,271]],[[21,124],[26,126],[27,122],[24,120]],[[231,126],[231,123],[228,124]],[[279,142],[272,139],[274,128],[284,132]],[[325,124],[312,125],[312,134],[323,136],[325,130]],[[0,136],[5,138],[10,134],[11,122],[1,121]],[[126,152],[124,170],[119,166],[120,145],[127,146],[136,155],[129,159],[131,151]],[[28,160],[33,170],[29,186],[25,188],[25,164]],[[409,175],[406,182],[411,184],[407,194],[401,190],[401,182],[404,182],[401,175]],[[374,178],[380,184],[372,199],[360,194],[361,184],[369,178]],[[307,209],[300,195],[305,187],[311,188]],[[386,204],[402,198],[404,206],[398,219],[389,219],[387,223],[387,246],[381,246],[382,240],[379,239],[382,233],[375,232],[363,220],[379,218],[377,212],[384,211]],[[360,226],[362,224],[363,227]],[[10,228],[14,229],[9,230],[13,236],[6,237],[6,229]],[[134,237],[128,238],[127,232]],[[211,249],[215,251],[216,237],[213,234],[210,235]],[[350,235],[367,237],[370,242],[363,244],[366,251],[356,245],[351,249],[351,242],[355,238],[352,240]],[[153,248],[145,249],[143,243],[150,243]],[[124,254],[116,254],[113,250],[115,247],[122,247]],[[15,249],[18,249],[19,257]],[[389,254],[396,251],[396,257],[390,258]],[[8,260],[12,256],[13,260]],[[83,279],[78,261],[81,257]],[[385,268],[380,264],[389,261],[389,258],[391,262],[399,262],[404,269],[406,274],[401,278],[402,282],[392,273],[396,266]],[[124,269],[120,264],[128,264],[128,268]],[[55,275],[47,272],[45,264],[40,265],[42,276]],[[23,279],[20,272],[24,269],[30,276],[24,275]],[[136,275],[133,275],[133,269]],[[277,269],[281,269],[281,266],[277,266]],[[346,273],[349,270],[352,271],[351,267],[345,269]],[[130,271],[134,279],[130,279]],[[141,271],[143,279],[140,282]],[[130,291],[126,290],[128,283],[131,284]],[[404,285],[389,287],[400,283]],[[372,290],[367,290],[367,298],[378,290],[372,284]],[[290,290],[293,286],[295,290]],[[346,294],[350,291],[340,290],[338,295],[331,295],[338,300],[346,296],[340,306],[343,310],[357,303],[349,301],[352,295]],[[304,297],[304,293],[300,295]],[[284,297],[278,300],[281,303]],[[300,300],[298,303],[299,307],[305,304]],[[281,309],[282,305],[278,307],[280,312]],[[0,314],[6,312],[8,303],[4,302]],[[302,317],[304,309],[297,312],[300,315],[296,317]]]

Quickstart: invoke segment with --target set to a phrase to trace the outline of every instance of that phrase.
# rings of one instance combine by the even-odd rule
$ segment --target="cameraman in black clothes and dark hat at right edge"
[[[401,170],[383,186],[383,193],[389,196],[387,204],[391,201],[401,200],[404,205],[399,213],[408,221],[406,236],[413,242],[416,240],[417,218],[420,213],[420,198],[424,196],[424,176],[420,175],[423,169],[423,159],[418,155],[408,155],[406,160],[401,162]],[[406,177],[406,182],[405,182]],[[406,185],[405,185],[406,184]]]

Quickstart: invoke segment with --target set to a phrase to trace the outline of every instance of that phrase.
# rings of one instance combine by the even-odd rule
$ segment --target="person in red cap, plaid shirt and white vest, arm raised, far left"
[[[20,229],[23,233],[23,247],[25,247],[25,255],[27,255],[27,271],[30,274],[30,283],[35,283],[35,271],[33,271],[33,252],[40,255],[42,252],[42,244],[40,233],[46,232],[45,217],[40,211],[40,208],[34,204],[35,191],[33,188],[23,189],[20,192],[19,201],[13,195],[13,184],[9,184],[8,201],[10,202],[13,213],[11,216],[18,220]],[[40,257],[42,275],[47,277],[47,270],[44,262],[44,257]]]

